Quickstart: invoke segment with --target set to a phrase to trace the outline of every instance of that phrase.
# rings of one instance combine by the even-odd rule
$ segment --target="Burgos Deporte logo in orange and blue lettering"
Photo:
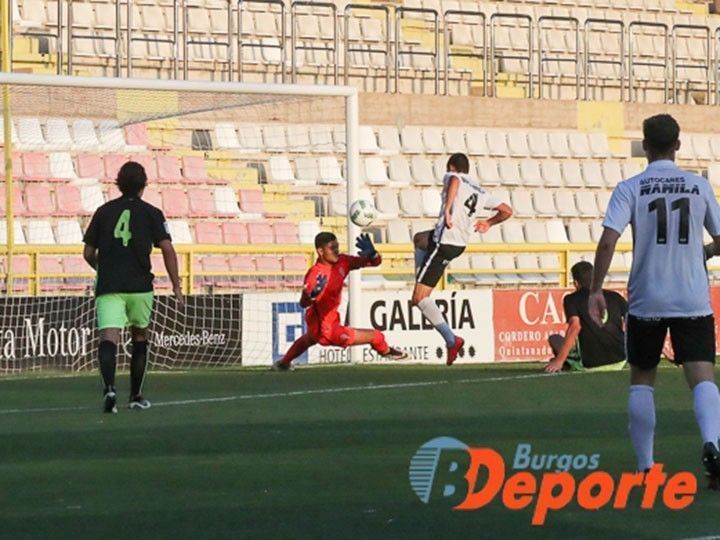
[[[643,509],[682,510],[697,494],[695,475],[667,474],[660,463],[614,478],[601,469],[599,454],[542,454],[520,443],[509,465],[492,448],[436,437],[410,459],[410,487],[424,504],[438,502],[456,511],[481,510],[496,499],[510,511],[530,508],[533,525],[544,525],[551,511],[573,503],[583,510],[622,511],[633,494]]]

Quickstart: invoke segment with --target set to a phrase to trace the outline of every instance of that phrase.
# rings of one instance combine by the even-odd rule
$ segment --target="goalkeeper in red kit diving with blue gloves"
[[[285,356],[273,364],[273,369],[290,369],[290,363],[316,343],[343,348],[370,344],[385,358],[407,358],[403,351],[388,346],[380,330],[348,328],[340,324],[338,307],[348,273],[366,266],[379,266],[382,260],[367,234],[358,236],[355,245],[359,257],[340,254],[337,237],[333,233],[321,232],[315,237],[318,259],[305,274],[300,296],[300,305],[305,308],[307,333],[295,340]]]

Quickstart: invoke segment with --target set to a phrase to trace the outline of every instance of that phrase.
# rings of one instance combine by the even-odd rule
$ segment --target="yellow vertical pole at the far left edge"
[[[0,0],[0,47],[2,47],[2,71],[11,70],[12,56],[10,52],[10,2],[12,0]],[[2,85],[3,93],[3,134],[5,144],[3,145],[5,164],[5,229],[7,233],[7,256],[6,256],[6,294],[13,292],[12,254],[15,248],[15,219],[13,215],[13,177],[12,177],[12,119],[10,117],[10,88],[7,84]]]

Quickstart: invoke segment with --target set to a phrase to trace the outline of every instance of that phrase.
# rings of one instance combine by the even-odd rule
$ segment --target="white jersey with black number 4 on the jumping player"
[[[448,229],[445,225],[445,205],[450,180],[453,178],[460,180],[460,185],[450,213],[452,228]],[[466,246],[470,234],[475,230],[477,212],[482,209],[493,210],[500,204],[502,204],[500,199],[485,191],[471,176],[464,173],[447,173],[443,177],[442,207],[435,225],[433,240],[438,245]]]

